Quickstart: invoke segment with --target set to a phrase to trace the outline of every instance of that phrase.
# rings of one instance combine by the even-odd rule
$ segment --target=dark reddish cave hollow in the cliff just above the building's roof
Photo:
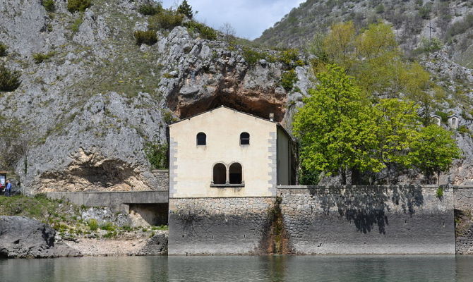
[[[275,121],[282,121],[285,115],[285,102],[279,99],[264,99],[242,94],[218,94],[207,99],[200,99],[192,104],[179,104],[179,102],[168,103],[180,118],[188,118],[196,114],[215,109],[219,106],[227,106],[237,111],[253,114],[261,118],[269,119],[274,114]]]

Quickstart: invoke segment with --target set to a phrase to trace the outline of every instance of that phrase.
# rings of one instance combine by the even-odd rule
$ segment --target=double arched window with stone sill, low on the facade
[[[222,163],[217,163],[213,166],[212,169],[212,186],[217,187],[242,187],[244,186],[243,181],[243,171],[241,164],[233,163],[229,166],[227,171],[227,166]],[[228,173],[227,173],[228,172]]]

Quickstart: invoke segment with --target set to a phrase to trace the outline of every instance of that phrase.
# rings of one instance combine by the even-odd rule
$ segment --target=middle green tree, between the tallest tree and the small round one
[[[390,184],[393,166],[407,167],[412,164],[409,158],[409,147],[417,140],[419,106],[414,102],[400,99],[381,99],[376,104],[373,115],[376,116],[378,147],[376,158],[386,168],[387,183]]]

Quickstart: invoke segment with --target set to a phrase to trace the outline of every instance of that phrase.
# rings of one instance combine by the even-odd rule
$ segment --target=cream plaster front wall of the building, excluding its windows
[[[220,107],[188,120],[169,125],[169,136],[176,142],[171,166],[170,197],[262,197],[274,196],[270,160],[271,133],[277,124]],[[207,145],[197,146],[196,135],[207,135]],[[240,133],[250,134],[250,145],[240,145]],[[212,168],[217,162],[243,167],[244,188],[211,188]],[[227,178],[228,179],[228,178]]]

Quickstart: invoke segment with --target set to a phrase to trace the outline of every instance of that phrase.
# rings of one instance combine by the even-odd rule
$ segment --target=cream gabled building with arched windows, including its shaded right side
[[[221,106],[169,125],[169,197],[274,197],[295,185],[282,125]]]

